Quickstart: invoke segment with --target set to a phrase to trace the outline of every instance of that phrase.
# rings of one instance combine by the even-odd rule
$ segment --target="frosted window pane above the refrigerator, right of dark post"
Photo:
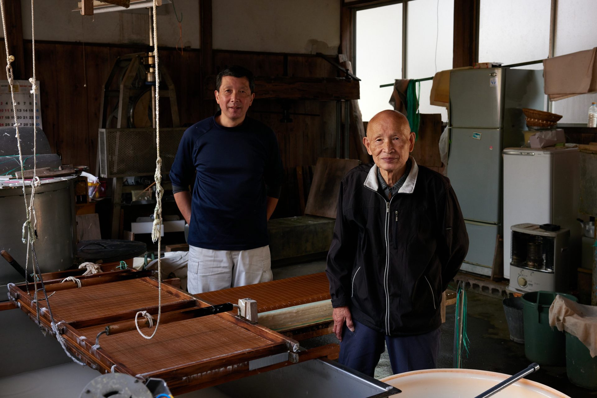
[[[479,62],[507,65],[547,58],[550,13],[550,0],[481,0]],[[524,69],[543,69],[543,64]]]

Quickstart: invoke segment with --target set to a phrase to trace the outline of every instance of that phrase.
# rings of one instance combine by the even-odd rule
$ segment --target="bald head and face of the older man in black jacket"
[[[406,118],[389,117],[372,119],[363,143],[378,168],[393,172],[406,165],[408,154],[414,149],[414,139]]]

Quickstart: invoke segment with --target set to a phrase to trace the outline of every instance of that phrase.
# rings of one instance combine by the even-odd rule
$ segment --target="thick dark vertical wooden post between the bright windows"
[[[452,67],[473,66],[479,58],[479,0],[454,0]]]

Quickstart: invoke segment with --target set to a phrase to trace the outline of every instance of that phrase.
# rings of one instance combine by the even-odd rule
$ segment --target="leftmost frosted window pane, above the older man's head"
[[[361,79],[363,121],[392,109],[392,87],[402,77],[402,4],[356,11],[356,76]]]

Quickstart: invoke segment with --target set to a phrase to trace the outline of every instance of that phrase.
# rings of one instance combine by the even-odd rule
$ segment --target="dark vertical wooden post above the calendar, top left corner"
[[[13,75],[15,79],[26,79],[25,60],[23,51],[23,20],[21,19],[21,2],[17,0],[4,1],[6,16],[6,35],[4,42],[8,47],[8,54],[14,56]]]

